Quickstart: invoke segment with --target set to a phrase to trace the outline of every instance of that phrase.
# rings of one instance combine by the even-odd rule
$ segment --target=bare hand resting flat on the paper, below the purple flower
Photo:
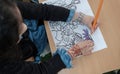
[[[68,50],[68,53],[71,55],[72,58],[79,56],[79,55],[86,56],[92,53],[93,46],[94,46],[94,43],[92,40],[85,40],[71,47]]]

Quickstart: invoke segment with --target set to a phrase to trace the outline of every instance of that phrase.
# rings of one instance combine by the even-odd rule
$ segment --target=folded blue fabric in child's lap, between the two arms
[[[38,51],[35,60],[36,62],[40,62],[40,54],[43,52],[48,43],[45,27],[44,25],[38,26],[37,20],[24,19],[24,23],[28,27],[29,38],[35,44]]]

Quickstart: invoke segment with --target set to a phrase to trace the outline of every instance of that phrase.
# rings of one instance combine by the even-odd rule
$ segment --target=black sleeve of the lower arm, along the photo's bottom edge
[[[65,68],[59,54],[40,64],[13,59],[2,61],[2,64],[6,67],[3,67],[3,73],[0,72],[2,74],[8,74],[8,72],[10,74],[57,74],[61,69]]]

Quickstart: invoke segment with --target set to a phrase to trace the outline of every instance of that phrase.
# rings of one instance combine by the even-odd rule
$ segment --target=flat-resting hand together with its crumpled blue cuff
[[[57,49],[56,53],[60,55],[61,60],[65,64],[66,68],[72,67],[72,60],[79,55],[90,55],[92,53],[94,42],[91,40],[85,40],[73,45],[69,50],[64,48]]]

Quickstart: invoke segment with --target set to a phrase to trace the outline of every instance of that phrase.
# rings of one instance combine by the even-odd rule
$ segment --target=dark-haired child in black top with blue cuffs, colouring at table
[[[23,23],[22,18],[65,22],[78,19],[91,28],[93,17],[53,5],[23,2],[16,4],[14,0],[0,0],[0,3],[1,74],[56,74],[63,68],[70,68],[71,61],[76,56],[91,54],[94,43],[91,40],[85,40],[75,44],[68,51],[62,48],[57,49],[54,56],[46,62],[37,64],[23,61],[22,59],[36,54],[33,49],[37,48],[28,37],[30,36],[29,28]],[[30,54],[29,57],[23,55],[22,46],[26,46],[26,49],[29,48],[32,55]]]

